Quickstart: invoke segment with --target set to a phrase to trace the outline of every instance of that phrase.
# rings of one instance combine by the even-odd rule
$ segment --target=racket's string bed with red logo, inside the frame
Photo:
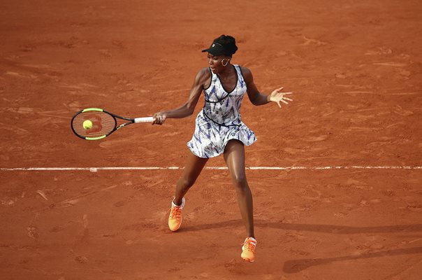
[[[84,127],[86,120],[91,121],[92,127]],[[108,113],[101,111],[85,111],[79,113],[72,121],[73,130],[81,137],[101,137],[107,135],[116,127],[116,120]]]

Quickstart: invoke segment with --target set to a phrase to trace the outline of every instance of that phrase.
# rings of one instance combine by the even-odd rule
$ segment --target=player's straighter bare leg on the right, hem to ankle
[[[238,140],[228,141],[224,149],[224,160],[238,195],[238,204],[248,237],[254,237],[254,210],[252,193],[246,179],[245,147]]]

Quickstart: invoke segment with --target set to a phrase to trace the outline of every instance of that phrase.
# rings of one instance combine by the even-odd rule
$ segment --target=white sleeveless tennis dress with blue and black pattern
[[[239,65],[233,65],[238,82],[231,92],[224,90],[217,74],[211,72],[211,84],[204,90],[205,105],[198,113],[195,132],[187,146],[200,158],[213,158],[224,153],[231,139],[242,141],[246,146],[256,141],[252,130],[240,119],[240,106],[247,87]]]

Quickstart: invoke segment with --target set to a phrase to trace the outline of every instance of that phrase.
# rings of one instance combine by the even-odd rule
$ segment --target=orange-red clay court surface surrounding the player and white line
[[[421,13],[390,0],[2,1],[0,278],[421,279]],[[204,170],[173,233],[181,169],[13,169],[183,167],[203,97],[191,118],[102,141],[69,123],[92,106],[180,106],[221,34],[259,90],[295,92],[281,110],[242,106],[258,138],[248,167],[304,167],[247,170],[256,262],[240,258],[227,170]]]

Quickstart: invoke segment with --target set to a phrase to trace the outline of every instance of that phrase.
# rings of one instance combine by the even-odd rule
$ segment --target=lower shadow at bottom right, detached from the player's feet
[[[284,262],[283,272],[285,273],[297,273],[308,267],[316,265],[326,265],[330,262],[340,262],[343,260],[359,260],[365,258],[379,258],[392,255],[409,255],[409,254],[420,254],[422,253],[422,247],[414,248],[402,248],[396,250],[379,251],[365,253],[362,255],[345,255],[337,258],[314,258],[314,259],[301,259],[301,260],[287,260]]]

